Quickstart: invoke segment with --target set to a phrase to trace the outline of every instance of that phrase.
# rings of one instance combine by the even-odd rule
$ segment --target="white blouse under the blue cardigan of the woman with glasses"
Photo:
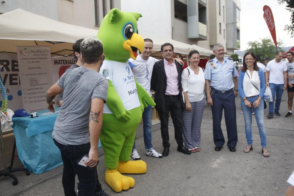
[[[260,91],[260,79],[259,79],[258,71],[253,71],[252,77],[249,70],[247,70],[246,72],[248,73],[249,77],[247,73],[245,73],[243,78],[243,90],[244,90],[245,96],[246,97],[258,96]],[[250,79],[252,83],[254,84],[254,86],[258,88],[258,90],[252,85]]]

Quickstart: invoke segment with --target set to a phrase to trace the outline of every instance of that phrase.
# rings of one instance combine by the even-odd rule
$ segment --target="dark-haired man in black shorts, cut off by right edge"
[[[289,51],[286,53],[288,62],[287,71],[288,71],[288,113],[285,117],[292,116],[292,105],[293,105],[293,94],[294,94],[294,56],[293,52]]]

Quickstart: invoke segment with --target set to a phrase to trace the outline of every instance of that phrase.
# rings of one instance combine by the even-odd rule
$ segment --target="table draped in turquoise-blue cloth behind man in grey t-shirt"
[[[59,109],[55,108],[55,111]],[[60,150],[52,139],[56,118],[57,112],[51,113],[49,110],[39,111],[38,117],[35,118],[29,116],[12,118],[19,160],[25,168],[35,174],[46,172],[62,164]],[[98,147],[101,147],[100,141]]]

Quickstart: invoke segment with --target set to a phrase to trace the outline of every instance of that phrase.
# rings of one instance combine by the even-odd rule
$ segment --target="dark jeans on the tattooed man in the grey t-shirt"
[[[85,154],[89,153],[90,143],[83,145],[63,145],[54,140],[55,145],[61,152],[63,161],[62,185],[64,195],[75,196],[75,177],[78,176],[78,195],[93,195],[102,190],[98,180],[97,169],[89,170],[87,167],[78,165]]]

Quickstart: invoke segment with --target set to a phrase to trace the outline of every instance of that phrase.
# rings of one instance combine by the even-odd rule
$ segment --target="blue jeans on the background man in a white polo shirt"
[[[281,104],[281,99],[282,99],[282,94],[283,94],[283,86],[284,84],[274,84],[274,83],[269,83],[270,85],[270,90],[272,91],[273,95],[273,102],[270,102],[268,105],[268,113],[273,113],[274,111],[274,101],[275,101],[275,96],[277,96],[276,103],[275,103],[275,112],[278,112],[280,109],[280,104]]]

